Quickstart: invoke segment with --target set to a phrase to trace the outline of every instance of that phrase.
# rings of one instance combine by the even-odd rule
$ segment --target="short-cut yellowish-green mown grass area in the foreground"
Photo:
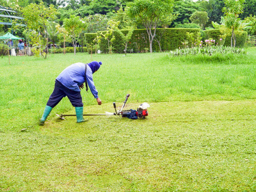
[[[148,111],[145,120],[90,116],[84,124],[56,116],[38,132],[0,133],[1,189],[256,190],[254,100],[158,102]]]

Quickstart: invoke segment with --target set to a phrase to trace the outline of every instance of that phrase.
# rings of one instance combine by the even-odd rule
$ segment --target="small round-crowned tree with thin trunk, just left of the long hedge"
[[[87,24],[81,20],[78,16],[71,15],[70,19],[64,19],[64,28],[67,30],[68,34],[72,39],[72,45],[74,47],[74,54],[76,55],[76,44],[82,35],[83,31],[86,29]]]

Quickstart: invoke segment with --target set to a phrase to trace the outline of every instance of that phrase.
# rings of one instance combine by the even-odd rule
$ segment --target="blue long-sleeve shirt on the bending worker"
[[[74,63],[69,67],[65,68],[61,74],[56,78],[65,87],[75,92],[81,92],[79,86],[86,81],[95,99],[98,98],[98,91],[95,88],[92,77],[92,69],[87,65],[86,76],[85,76],[85,65],[84,63]]]

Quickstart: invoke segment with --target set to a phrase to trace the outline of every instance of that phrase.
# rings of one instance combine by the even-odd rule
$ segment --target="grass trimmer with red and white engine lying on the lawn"
[[[104,116],[104,115],[120,115],[122,117],[127,117],[127,118],[131,118],[131,119],[138,119],[138,118],[143,118],[145,119],[146,116],[148,116],[148,110],[147,108],[149,108],[149,104],[147,104],[147,102],[144,102],[143,104],[141,104],[137,110],[134,109],[130,109],[130,110],[123,110],[124,106],[129,98],[130,94],[127,94],[124,100],[124,104],[122,105],[122,108],[120,110],[116,110],[116,103],[113,102],[113,106],[115,108],[115,113],[110,113],[110,112],[106,112],[106,113],[99,113],[99,114],[84,114],[83,116]],[[76,116],[76,115],[65,115],[65,114],[61,114],[58,115],[61,119],[65,119],[64,116]]]

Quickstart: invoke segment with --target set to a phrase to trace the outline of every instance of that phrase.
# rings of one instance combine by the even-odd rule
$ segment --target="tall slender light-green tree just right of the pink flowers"
[[[244,1],[245,0],[225,0],[225,7],[223,8],[225,16],[221,17],[221,23],[225,26],[225,28],[231,29],[232,31],[231,47],[233,47],[233,42],[234,47],[236,47],[235,31],[240,25],[240,19],[238,17],[240,13],[243,13]]]

